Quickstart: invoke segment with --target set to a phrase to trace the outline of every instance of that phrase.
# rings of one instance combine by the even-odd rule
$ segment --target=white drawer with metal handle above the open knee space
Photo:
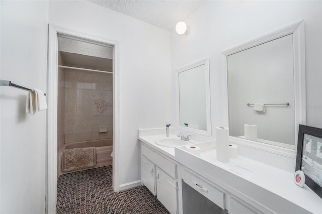
[[[200,178],[199,175],[195,175],[188,171],[187,169],[183,169],[182,179],[189,186],[200,192],[206,198],[217,204],[220,208],[225,209],[225,193],[215,188],[207,181]]]

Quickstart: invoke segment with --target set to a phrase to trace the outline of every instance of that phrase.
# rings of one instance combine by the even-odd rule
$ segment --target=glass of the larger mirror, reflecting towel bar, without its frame
[[[227,69],[230,136],[295,145],[292,35],[228,56]]]

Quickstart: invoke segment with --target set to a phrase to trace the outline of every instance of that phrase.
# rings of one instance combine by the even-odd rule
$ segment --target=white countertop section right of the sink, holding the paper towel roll
[[[293,179],[294,173],[240,155],[238,155],[237,158],[230,158],[229,162],[224,163],[216,159],[215,148],[201,152],[200,155],[192,156],[198,157],[204,162],[208,162],[215,167],[224,169],[229,173],[262,187],[312,213],[322,213],[322,198],[313,192],[307,185],[304,185],[303,188],[297,186]],[[209,166],[206,166],[202,161],[199,163],[201,163],[197,166],[199,170],[206,171],[210,176],[225,182],[225,178],[218,176],[214,168],[209,170]],[[246,195],[251,195],[253,193],[253,189],[245,188],[245,186],[233,185],[228,181],[226,183]],[[249,194],[247,191],[249,191]]]

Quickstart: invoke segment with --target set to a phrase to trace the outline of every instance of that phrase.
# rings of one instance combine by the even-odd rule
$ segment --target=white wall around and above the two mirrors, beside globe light
[[[192,61],[210,58],[213,134],[214,128],[223,123],[221,52],[303,19],[307,125],[322,128],[321,10],[321,1],[209,1],[185,20],[190,26],[189,35],[182,36],[172,31],[173,72]],[[176,118],[175,108],[172,114]]]

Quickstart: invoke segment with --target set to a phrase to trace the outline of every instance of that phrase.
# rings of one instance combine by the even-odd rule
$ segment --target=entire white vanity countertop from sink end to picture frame
[[[183,147],[175,149],[154,143],[156,139],[162,137],[166,137],[166,135],[139,136],[139,140],[176,161],[185,162],[182,164],[185,164],[188,167],[189,163],[191,163],[199,171],[204,171],[205,174],[210,175],[210,178],[213,177],[216,180],[225,181],[226,178],[220,177],[220,173],[216,170],[216,168],[220,168],[285,198],[286,200],[297,204],[312,213],[322,213],[322,199],[308,186],[304,185],[303,188],[297,186],[293,181],[294,173],[287,172],[240,155],[235,159],[230,158],[228,163],[220,162],[216,159],[214,146],[213,148],[208,148],[206,151],[201,152],[200,155],[193,155],[185,151],[185,149],[182,149]],[[170,135],[170,137],[176,137],[176,135]],[[208,144],[210,145],[210,143]],[[198,146],[198,144],[194,145]],[[187,153],[182,153],[185,155],[186,161],[183,161],[181,157],[176,156],[175,150],[181,150],[181,153]],[[228,185],[230,185],[229,182]],[[250,195],[253,194],[252,189],[247,190],[245,189],[245,186],[238,187],[238,185],[236,185],[232,188],[237,190],[239,189],[241,192],[249,191]],[[246,195],[248,194],[246,193]]]

